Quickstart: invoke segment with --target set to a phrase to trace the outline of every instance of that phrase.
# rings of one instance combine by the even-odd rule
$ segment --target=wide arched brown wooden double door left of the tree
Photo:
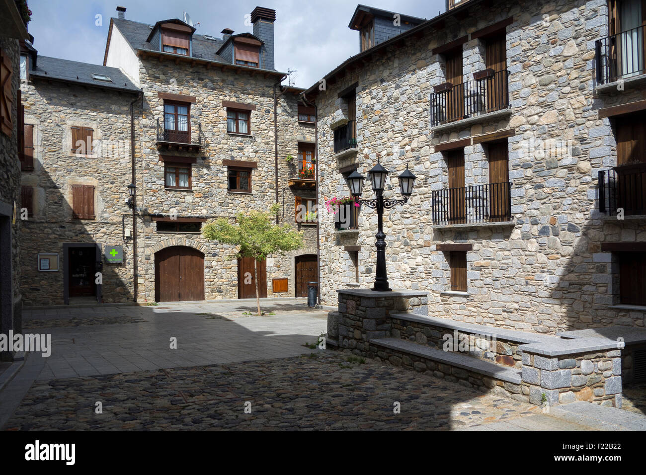
[[[165,248],[156,253],[155,300],[204,300],[204,255],[184,246]]]

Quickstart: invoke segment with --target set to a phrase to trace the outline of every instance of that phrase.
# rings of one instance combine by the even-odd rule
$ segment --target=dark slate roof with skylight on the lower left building
[[[30,76],[39,78],[58,79],[70,83],[91,85],[103,89],[127,90],[138,92],[140,89],[118,68],[111,68],[103,65],[79,63],[68,59],[51,58],[50,56],[38,56],[37,67],[29,71]],[[97,81],[92,74],[105,74],[112,79],[111,83]]]

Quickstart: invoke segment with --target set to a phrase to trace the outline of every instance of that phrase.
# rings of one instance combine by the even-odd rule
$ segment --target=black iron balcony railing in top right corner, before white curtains
[[[644,26],[631,28],[595,42],[598,84],[646,74]]]

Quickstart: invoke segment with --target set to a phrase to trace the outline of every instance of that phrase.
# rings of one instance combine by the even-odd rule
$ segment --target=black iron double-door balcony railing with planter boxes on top
[[[432,127],[510,107],[508,70],[485,70],[476,77],[461,84],[435,87],[431,93]]]

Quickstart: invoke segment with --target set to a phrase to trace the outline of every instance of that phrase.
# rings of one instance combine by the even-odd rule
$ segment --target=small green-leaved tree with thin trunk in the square
[[[236,224],[227,218],[219,218],[215,222],[206,224],[202,234],[205,238],[238,246],[236,257],[253,257],[255,273],[255,292],[258,315],[260,311],[260,283],[258,282],[258,260],[264,260],[268,255],[285,255],[286,252],[295,251],[303,247],[303,233],[294,231],[289,224],[272,224],[280,206],[273,204],[269,213],[251,211],[245,215],[238,213]]]

